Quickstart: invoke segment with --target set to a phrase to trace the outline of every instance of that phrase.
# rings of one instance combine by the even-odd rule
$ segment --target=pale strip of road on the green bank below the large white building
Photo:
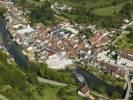
[[[47,84],[58,85],[58,86],[67,86],[67,84],[65,84],[65,83],[61,83],[61,82],[45,79],[45,78],[42,78],[42,77],[39,77],[39,76],[37,77],[37,79],[41,83],[47,83]]]

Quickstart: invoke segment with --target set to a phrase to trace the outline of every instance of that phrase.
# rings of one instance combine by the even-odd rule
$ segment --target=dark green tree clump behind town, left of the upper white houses
[[[45,25],[54,23],[54,11],[51,9],[51,3],[45,1],[41,6],[31,9],[30,19],[33,23],[42,22]]]

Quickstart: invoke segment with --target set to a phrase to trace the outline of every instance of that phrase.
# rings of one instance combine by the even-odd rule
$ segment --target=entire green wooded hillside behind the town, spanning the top
[[[62,19],[82,24],[96,24],[99,27],[119,28],[123,19],[130,19],[133,13],[132,0],[12,0],[24,10],[31,11],[32,24],[42,22],[54,25]],[[51,6],[57,4],[55,12]],[[61,10],[63,6],[71,10]],[[65,8],[65,9],[67,9]],[[60,9],[60,10],[59,10]],[[64,8],[63,8],[64,9]],[[56,12],[57,11],[57,12]],[[56,15],[56,16],[55,16]]]

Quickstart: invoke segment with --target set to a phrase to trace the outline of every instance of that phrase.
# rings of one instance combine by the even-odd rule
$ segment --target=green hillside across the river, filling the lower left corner
[[[62,87],[39,83],[35,73],[21,69],[0,49],[0,100],[84,100],[76,91],[77,86]]]

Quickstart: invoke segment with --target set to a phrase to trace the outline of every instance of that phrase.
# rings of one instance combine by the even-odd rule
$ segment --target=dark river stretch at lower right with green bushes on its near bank
[[[85,78],[91,91],[113,99],[123,98],[124,90],[122,88],[108,84],[84,69],[79,68],[77,71]]]

